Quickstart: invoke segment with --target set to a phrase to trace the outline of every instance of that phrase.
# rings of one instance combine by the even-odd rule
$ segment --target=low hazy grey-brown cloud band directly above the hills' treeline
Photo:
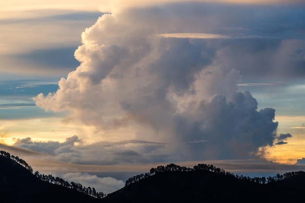
[[[135,142],[136,141],[133,141],[133,143]],[[124,142],[124,143],[127,144],[128,142]],[[108,146],[111,146],[111,144],[108,143]],[[91,147],[92,146],[89,146],[88,148]],[[95,189],[103,192],[107,191],[107,188],[103,188],[103,186],[110,185],[111,188],[112,184],[105,183],[108,182],[108,180],[101,177],[114,177],[117,181],[115,181],[112,178],[109,178],[110,179],[109,182],[114,183],[113,185],[116,185],[118,188],[118,185],[120,183],[119,180],[125,181],[129,177],[132,177],[133,175],[143,172],[144,173],[148,172],[149,169],[152,167],[156,167],[159,165],[167,165],[170,163],[175,163],[179,166],[187,166],[187,167],[193,167],[198,163],[212,164],[214,166],[223,168],[226,171],[233,172],[234,174],[249,175],[251,177],[270,176],[271,174],[272,175],[275,175],[276,173],[282,174],[287,171],[304,170],[304,165],[302,165],[300,161],[299,161],[300,164],[291,165],[291,164],[278,164],[259,159],[205,160],[205,161],[195,160],[195,161],[185,161],[185,162],[174,162],[171,159],[162,163],[154,162],[148,164],[143,164],[143,163],[115,164],[115,165],[100,165],[100,163],[95,163],[95,165],[72,164],[72,163],[67,164],[65,162],[59,162],[54,159],[52,160],[46,154],[30,151],[23,148],[10,147],[4,145],[0,145],[0,148],[1,150],[8,151],[15,156],[18,155],[20,158],[24,159],[28,164],[30,164],[34,170],[38,170],[40,173],[53,174],[54,176],[59,176],[59,177],[63,177],[65,176],[65,174],[68,173],[68,175],[66,175],[64,179],[74,182],[77,181],[80,182],[82,185],[86,185],[86,186],[91,186],[91,187],[93,186],[95,187]],[[91,154],[90,156],[92,157],[93,155]],[[102,154],[98,154],[98,156],[96,156],[96,159],[98,157],[102,157]],[[90,175],[87,175],[88,173]],[[92,174],[97,175],[97,178]],[[71,179],[69,177],[71,177]],[[82,179],[85,179],[85,177],[88,177],[90,181],[81,182]]]

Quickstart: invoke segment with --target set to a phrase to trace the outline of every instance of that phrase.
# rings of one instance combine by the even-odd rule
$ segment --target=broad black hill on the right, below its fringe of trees
[[[304,176],[258,184],[208,170],[164,171],[108,194],[102,202],[295,203],[304,201],[304,195]]]

